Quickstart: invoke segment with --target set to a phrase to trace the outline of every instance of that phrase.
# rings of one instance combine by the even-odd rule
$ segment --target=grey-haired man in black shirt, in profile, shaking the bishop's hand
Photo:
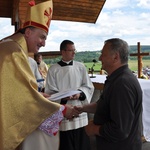
[[[128,68],[128,44],[118,38],[105,41],[99,60],[108,73],[97,102],[76,107],[93,112],[86,133],[96,136],[98,150],[141,150],[142,91]]]

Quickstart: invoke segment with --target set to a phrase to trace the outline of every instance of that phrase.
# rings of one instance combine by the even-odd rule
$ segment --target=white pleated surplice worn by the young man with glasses
[[[86,95],[84,101],[70,100],[67,104],[76,106],[90,103],[94,86],[83,63],[73,61],[73,65],[63,67],[59,64],[51,65],[47,74],[45,93],[52,94],[66,90],[81,90]],[[87,124],[87,113],[82,113],[72,121],[64,119],[60,125],[60,131],[78,129]]]

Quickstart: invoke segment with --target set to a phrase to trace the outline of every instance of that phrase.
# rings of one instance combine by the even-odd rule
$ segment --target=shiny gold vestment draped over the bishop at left
[[[37,91],[26,41],[17,33],[0,42],[0,149],[15,150],[46,118],[58,111]]]

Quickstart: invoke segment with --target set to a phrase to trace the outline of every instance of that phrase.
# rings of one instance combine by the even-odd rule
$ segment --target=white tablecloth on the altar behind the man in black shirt
[[[104,83],[106,75],[94,75],[96,78],[91,78],[92,82]],[[147,141],[150,141],[150,80],[138,79],[143,91],[143,135]]]

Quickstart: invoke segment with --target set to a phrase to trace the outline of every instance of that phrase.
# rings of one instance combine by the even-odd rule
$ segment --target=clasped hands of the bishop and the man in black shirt
[[[65,105],[66,112],[64,117],[71,120],[75,117],[79,117],[79,114],[83,112],[83,106],[72,106],[72,105]]]

